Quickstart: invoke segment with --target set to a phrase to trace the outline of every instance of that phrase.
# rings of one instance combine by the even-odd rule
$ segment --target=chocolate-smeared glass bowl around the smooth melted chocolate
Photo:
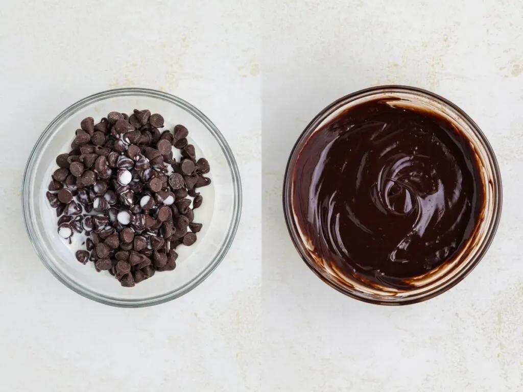
[[[387,99],[390,105],[436,112],[450,121],[470,141],[482,174],[485,205],[476,230],[465,248],[449,263],[413,278],[408,290],[382,289],[369,286],[353,276],[334,270],[323,260],[315,260],[304,246],[293,213],[293,173],[304,143],[323,125],[340,113],[360,103]],[[441,294],[461,281],[480,262],[496,233],[502,209],[501,175],[492,147],[480,128],[460,108],[445,98],[419,88],[406,86],[379,86],[347,95],[331,103],[309,123],[292,148],[283,183],[283,211],[289,234],[300,256],[325,283],[360,301],[381,305],[406,305],[425,301]]]

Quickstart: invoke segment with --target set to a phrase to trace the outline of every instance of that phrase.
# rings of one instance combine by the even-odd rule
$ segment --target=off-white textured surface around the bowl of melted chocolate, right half
[[[264,4],[263,390],[521,391],[521,2]],[[504,180],[501,225],[479,267],[407,307],[329,288],[298,257],[282,217],[283,169],[305,125],[336,98],[379,84],[426,88],[459,105],[491,141]]]

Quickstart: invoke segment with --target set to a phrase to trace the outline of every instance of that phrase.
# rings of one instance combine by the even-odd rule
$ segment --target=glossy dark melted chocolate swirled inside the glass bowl
[[[371,284],[451,260],[479,221],[482,180],[469,141],[435,113],[363,103],[305,142],[293,209],[316,257]]]

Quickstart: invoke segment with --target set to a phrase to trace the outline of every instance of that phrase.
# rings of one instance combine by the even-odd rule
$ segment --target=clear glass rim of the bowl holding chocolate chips
[[[90,290],[84,290],[83,287],[79,286],[74,282],[73,280],[67,278],[65,275],[62,275],[60,271],[55,270],[47,261],[47,256],[45,252],[42,250],[40,245],[40,238],[36,234],[36,230],[34,228],[34,223],[31,220],[32,216],[32,210],[33,206],[31,204],[30,200],[30,190],[31,190],[31,173],[30,169],[35,165],[35,160],[37,156],[40,153],[40,149],[42,145],[48,140],[51,133],[54,131],[55,127],[60,124],[62,121],[64,121],[67,117],[69,117],[70,113],[83,109],[84,107],[88,105],[92,105],[93,103],[96,103],[98,101],[107,99],[107,98],[113,98],[113,97],[121,97],[121,96],[132,96],[132,95],[139,95],[143,97],[151,97],[151,98],[157,98],[161,99],[170,103],[173,103],[174,105],[180,107],[181,109],[186,110],[188,113],[192,114],[196,119],[198,119],[206,128],[207,130],[214,136],[215,140],[220,145],[223,154],[225,155],[225,158],[227,160],[227,163],[229,165],[229,168],[231,170],[232,180],[233,180],[233,188],[234,188],[234,205],[233,205],[233,212],[232,212],[232,220],[231,225],[228,228],[228,233],[225,237],[224,243],[222,247],[219,249],[217,255],[214,257],[214,259],[208,264],[208,266],[197,276],[195,276],[192,280],[187,282],[185,285],[178,287],[178,289],[167,292],[162,295],[157,295],[154,297],[149,297],[146,299],[119,299],[115,297],[107,297],[103,295],[98,295],[94,291]],[[117,88],[117,89],[111,89],[106,91],[101,91],[100,93],[90,95],[88,97],[85,97],[75,103],[73,105],[67,107],[65,110],[63,110],[58,116],[56,116],[44,129],[40,137],[35,143],[35,146],[32,148],[31,153],[29,155],[29,158],[27,160],[26,168],[24,170],[24,177],[22,179],[22,215],[24,216],[24,224],[26,227],[27,234],[29,236],[29,239],[31,241],[31,244],[35,251],[37,252],[37,255],[39,259],[42,261],[44,266],[58,279],[61,281],[65,286],[69,287],[69,289],[73,290],[74,292],[92,299],[93,301],[103,303],[106,305],[111,306],[118,306],[118,307],[145,307],[145,306],[152,306],[152,305],[158,305],[162,304],[164,302],[172,301],[172,299],[178,298],[184,294],[187,294],[189,291],[194,289],[196,286],[198,286],[201,282],[203,282],[211,273],[214,271],[220,262],[225,257],[226,253],[229,251],[234,237],[236,235],[238,225],[240,223],[240,217],[241,217],[241,211],[242,211],[242,183],[240,178],[240,170],[238,169],[238,166],[236,164],[236,160],[234,158],[234,155],[232,153],[231,148],[229,147],[229,144],[226,142],[225,138],[223,137],[222,133],[218,130],[217,126],[215,126],[211,120],[207,118],[200,110],[198,110],[196,107],[192,106],[187,101],[178,98],[174,95],[164,93],[163,91],[148,89],[148,88]]]

